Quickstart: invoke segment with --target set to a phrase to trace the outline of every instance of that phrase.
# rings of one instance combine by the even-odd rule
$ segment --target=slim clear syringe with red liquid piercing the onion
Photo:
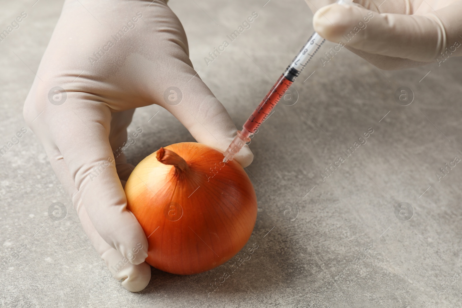
[[[352,0],[338,0],[337,4],[349,4]],[[249,119],[244,123],[242,130],[237,131],[237,136],[231,142],[231,145],[225,151],[223,162],[228,162],[250,141],[250,136],[254,134],[261,123],[271,114],[271,110],[276,106],[281,97],[293,84],[300,72],[307,63],[313,58],[316,52],[326,40],[316,32],[310,37],[305,46],[300,50],[292,63],[287,66],[286,71],[276,81],[268,94],[263,98],[260,105],[254,110]]]

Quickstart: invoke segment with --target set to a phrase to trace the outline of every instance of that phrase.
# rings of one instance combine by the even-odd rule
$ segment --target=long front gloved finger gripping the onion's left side
[[[130,260],[140,264],[147,256],[147,240],[126,209],[127,199],[109,144],[111,112],[103,103],[85,99],[86,95],[68,93],[73,109],[48,121],[50,135],[78,190],[73,195],[77,211],[84,206],[99,235],[124,257],[128,258],[133,243],[141,243],[139,258]]]

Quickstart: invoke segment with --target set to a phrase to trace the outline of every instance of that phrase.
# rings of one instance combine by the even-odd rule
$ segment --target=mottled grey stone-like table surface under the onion
[[[237,126],[313,30],[303,0],[169,5],[186,30],[196,71]],[[3,146],[26,127],[24,99],[62,1],[1,1],[0,7],[1,30],[28,14],[0,42]],[[250,29],[207,65],[204,57],[252,12],[259,17]],[[444,178],[437,174],[462,158],[462,59],[389,72],[343,49],[323,65],[323,52],[334,45],[326,43],[250,144],[255,160],[247,171],[258,216],[244,249],[259,248],[210,294],[224,266],[193,276],[152,268],[145,290],[125,290],[91,247],[26,127],[0,158],[0,306],[461,307],[462,166]],[[411,104],[395,99],[400,87],[412,90]],[[134,164],[160,146],[194,141],[156,105],[135,112],[129,129],[135,127],[146,133],[127,149]],[[366,144],[347,157],[368,130]],[[340,156],[345,161],[324,178]],[[66,205],[65,219],[49,218],[53,202]]]

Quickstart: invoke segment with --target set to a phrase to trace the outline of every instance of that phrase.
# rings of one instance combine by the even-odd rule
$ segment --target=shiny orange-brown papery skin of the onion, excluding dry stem
[[[213,148],[183,142],[164,149],[182,157],[189,169],[160,163],[156,151],[125,185],[127,208],[148,240],[146,262],[180,275],[211,270],[249,240],[257,216],[255,190],[241,165],[220,163],[223,154]]]

